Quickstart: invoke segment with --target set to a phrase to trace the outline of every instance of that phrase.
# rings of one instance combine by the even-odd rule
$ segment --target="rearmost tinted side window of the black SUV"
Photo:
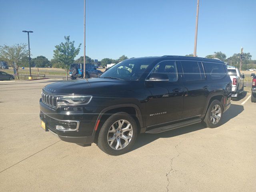
[[[226,76],[223,64],[218,63],[204,63],[206,73],[210,75],[212,80],[222,79]]]

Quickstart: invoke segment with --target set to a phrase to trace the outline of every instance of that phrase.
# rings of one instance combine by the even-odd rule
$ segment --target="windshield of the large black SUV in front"
[[[152,59],[128,59],[112,66],[100,78],[117,78],[122,80],[138,80],[153,62]]]

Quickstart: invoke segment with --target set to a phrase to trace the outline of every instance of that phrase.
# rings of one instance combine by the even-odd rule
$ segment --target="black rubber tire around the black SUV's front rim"
[[[131,124],[132,138],[128,142],[127,146],[120,149],[119,146],[117,145],[117,140],[114,138],[115,133],[113,133],[114,142],[116,142],[116,146],[118,146],[118,148],[119,148],[119,149],[113,149],[110,147],[111,143],[110,144],[108,143],[108,136],[110,134],[109,131],[110,131],[112,125],[115,122],[117,122],[118,120],[126,120],[127,122],[129,122]],[[125,126],[125,124],[124,124],[124,126]],[[121,130],[122,130],[122,127],[121,127]],[[115,114],[111,115],[104,122],[104,124],[102,125],[102,128],[100,129],[99,136],[98,136],[98,147],[106,154],[114,155],[114,156],[122,155],[122,154],[130,151],[130,149],[132,148],[132,146],[134,145],[134,142],[136,140],[137,133],[138,133],[137,124],[132,116],[130,116],[128,113],[125,113],[125,112],[115,113]],[[122,134],[120,136],[122,136]],[[120,138],[120,140],[121,140],[121,138]],[[114,144],[114,142],[113,142],[113,144]],[[124,142],[124,140],[122,140],[122,142]]]

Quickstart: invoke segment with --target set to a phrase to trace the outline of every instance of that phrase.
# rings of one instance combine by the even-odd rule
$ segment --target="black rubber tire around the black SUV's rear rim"
[[[220,114],[220,118],[218,120],[218,122],[216,124],[214,124],[212,121],[211,121],[211,115],[212,115],[212,109],[214,106],[220,106],[220,110],[221,110],[221,114]],[[222,104],[220,103],[220,101],[218,100],[213,100],[212,103],[210,104],[207,112],[206,112],[206,115],[204,117],[204,124],[206,125],[206,127],[209,127],[209,128],[216,128],[218,126],[220,126],[220,122],[221,122],[221,119],[222,119],[222,115],[223,115],[223,107],[222,107]]]

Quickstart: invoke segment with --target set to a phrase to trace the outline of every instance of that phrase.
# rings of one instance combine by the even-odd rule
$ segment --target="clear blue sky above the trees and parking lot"
[[[70,35],[83,43],[83,0],[0,0],[0,45],[27,43],[53,56]],[[86,0],[86,55],[94,59],[185,55],[194,50],[196,0]],[[198,56],[250,52],[256,59],[256,0],[200,0]],[[83,49],[79,56],[83,55]]]

